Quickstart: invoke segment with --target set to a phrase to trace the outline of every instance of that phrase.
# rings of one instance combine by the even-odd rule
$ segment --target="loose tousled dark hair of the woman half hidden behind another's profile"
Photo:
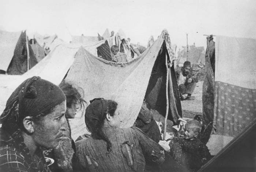
[[[70,83],[67,83],[65,82],[65,80],[63,80],[59,86],[66,96],[68,108],[72,108],[72,104],[79,103],[81,109],[85,106],[85,104],[87,104],[86,101],[82,98],[78,89],[73,87],[73,85],[71,85]]]

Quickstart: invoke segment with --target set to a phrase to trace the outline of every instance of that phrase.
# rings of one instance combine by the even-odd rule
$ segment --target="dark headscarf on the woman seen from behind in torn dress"
[[[98,138],[98,130],[101,129],[102,122],[104,122],[104,115],[108,108],[108,100],[97,98],[90,101],[91,104],[85,110],[85,123],[92,137]]]

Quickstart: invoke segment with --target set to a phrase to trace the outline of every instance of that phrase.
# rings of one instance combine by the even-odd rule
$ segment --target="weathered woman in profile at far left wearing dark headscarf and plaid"
[[[41,147],[55,148],[67,126],[66,97],[40,77],[25,80],[0,116],[0,171],[48,172]]]

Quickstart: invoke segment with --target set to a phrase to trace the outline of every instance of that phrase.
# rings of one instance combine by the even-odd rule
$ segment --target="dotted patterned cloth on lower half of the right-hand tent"
[[[256,118],[256,90],[216,81],[214,106],[217,134],[236,137]]]

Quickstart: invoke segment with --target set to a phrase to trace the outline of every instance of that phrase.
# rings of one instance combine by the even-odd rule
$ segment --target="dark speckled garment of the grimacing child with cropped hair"
[[[206,145],[199,139],[186,140],[175,137],[171,140],[170,155],[188,171],[197,171],[207,161],[210,160],[211,154]],[[173,167],[177,169],[177,167]],[[186,171],[187,171],[186,170]]]

